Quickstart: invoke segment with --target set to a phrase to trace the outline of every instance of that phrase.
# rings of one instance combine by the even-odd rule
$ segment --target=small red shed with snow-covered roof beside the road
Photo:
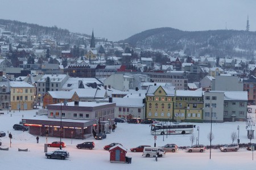
[[[125,163],[127,149],[121,145],[115,145],[109,149],[111,163]]]

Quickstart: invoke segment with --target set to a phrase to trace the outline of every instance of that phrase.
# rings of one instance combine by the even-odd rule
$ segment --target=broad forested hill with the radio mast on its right
[[[189,56],[252,58],[256,32],[236,30],[181,31],[155,28],[137,33],[124,42],[143,49],[184,50]]]

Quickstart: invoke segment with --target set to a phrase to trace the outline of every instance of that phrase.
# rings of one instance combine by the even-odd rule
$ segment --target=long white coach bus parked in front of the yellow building
[[[151,124],[151,134],[152,135],[164,135],[164,134],[190,134],[193,133],[193,128],[196,125],[191,124],[177,124],[172,125],[162,125],[162,124]]]

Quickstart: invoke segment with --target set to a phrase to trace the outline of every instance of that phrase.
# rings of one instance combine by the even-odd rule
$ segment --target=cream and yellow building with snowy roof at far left
[[[35,87],[26,82],[10,82],[10,104],[12,110],[32,110]]]

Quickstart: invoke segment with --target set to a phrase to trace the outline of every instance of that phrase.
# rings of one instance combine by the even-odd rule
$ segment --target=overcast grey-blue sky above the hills
[[[109,40],[123,40],[147,29],[183,31],[256,30],[255,0],[7,0],[0,19],[66,28]]]

